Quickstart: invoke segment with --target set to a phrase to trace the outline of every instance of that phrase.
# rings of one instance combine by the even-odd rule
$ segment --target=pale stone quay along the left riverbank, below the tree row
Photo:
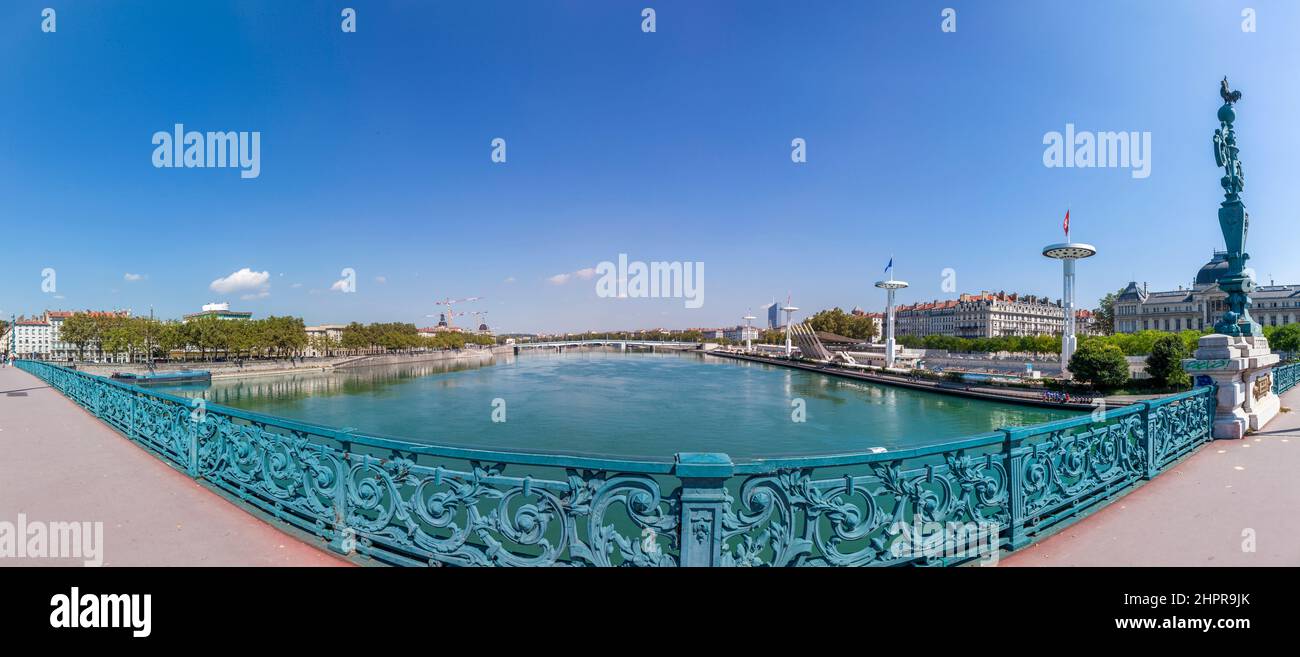
[[[494,358],[512,355],[510,346],[489,349],[455,349],[442,351],[422,351],[415,354],[372,354],[330,358],[299,358],[276,360],[246,360],[242,364],[221,362],[172,362],[157,363],[155,369],[207,369],[212,379],[242,379],[251,376],[291,375],[302,372],[329,372],[359,367],[377,367],[404,363],[424,363],[456,360],[464,363],[490,363]],[[62,364],[62,363],[55,363]],[[77,363],[75,369],[95,376],[112,376],[114,372],[143,373],[148,371],[144,363]]]

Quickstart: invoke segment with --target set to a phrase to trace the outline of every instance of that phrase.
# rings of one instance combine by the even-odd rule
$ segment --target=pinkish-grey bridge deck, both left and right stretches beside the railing
[[[1300,388],[1260,433],[1217,441],[1005,566],[1300,565]],[[56,390],[0,369],[0,520],[104,523],[104,563],[346,565],[164,464]],[[1243,550],[1252,530],[1256,550]],[[79,559],[0,558],[4,565]]]

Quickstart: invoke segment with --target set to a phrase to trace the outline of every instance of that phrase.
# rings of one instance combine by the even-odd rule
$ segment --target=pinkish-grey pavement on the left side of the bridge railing
[[[105,566],[342,566],[203,488],[44,381],[0,368],[0,523],[103,522]],[[13,558],[0,566],[82,565]]]

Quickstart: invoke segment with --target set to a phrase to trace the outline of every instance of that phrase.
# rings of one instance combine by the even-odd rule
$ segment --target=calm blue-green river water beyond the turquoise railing
[[[654,459],[894,450],[1074,415],[699,354],[526,354],[164,390],[412,442]]]

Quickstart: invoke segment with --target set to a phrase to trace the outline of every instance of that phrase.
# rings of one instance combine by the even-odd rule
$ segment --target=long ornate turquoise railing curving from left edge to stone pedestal
[[[421,445],[18,367],[244,509],[404,566],[889,566],[907,526],[1015,549],[1210,441],[1212,388],[898,451],[621,461]],[[311,540],[311,539],[309,539]]]

